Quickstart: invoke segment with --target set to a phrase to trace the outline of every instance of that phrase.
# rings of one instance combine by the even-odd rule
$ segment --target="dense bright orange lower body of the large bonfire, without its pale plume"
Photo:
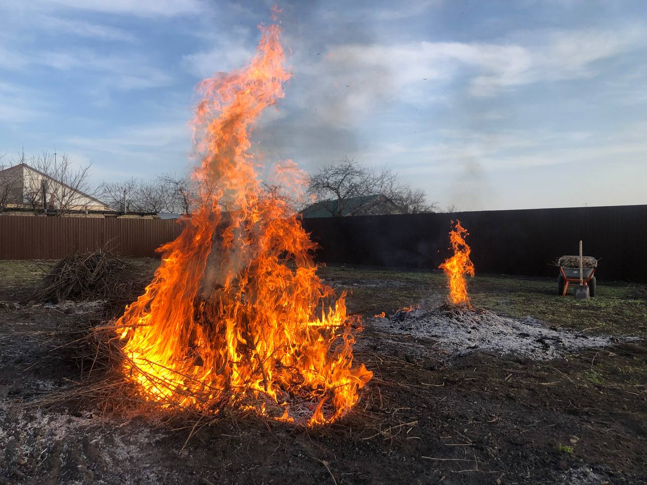
[[[206,247],[193,243],[215,225],[190,224],[164,247],[155,279],[117,323],[132,325],[122,334],[124,372],[150,400],[214,412],[232,406],[311,425],[356,403],[372,376],[353,367],[357,320],[347,317],[344,294],[324,310],[333,292],[316,275],[313,243],[287,210],[268,213],[276,203],[261,204],[258,221],[241,221],[245,231],[227,226]],[[263,250],[223,283],[207,283],[208,246],[221,247],[230,232],[237,247],[256,244],[262,233]],[[217,257],[222,268],[245,255]]]

